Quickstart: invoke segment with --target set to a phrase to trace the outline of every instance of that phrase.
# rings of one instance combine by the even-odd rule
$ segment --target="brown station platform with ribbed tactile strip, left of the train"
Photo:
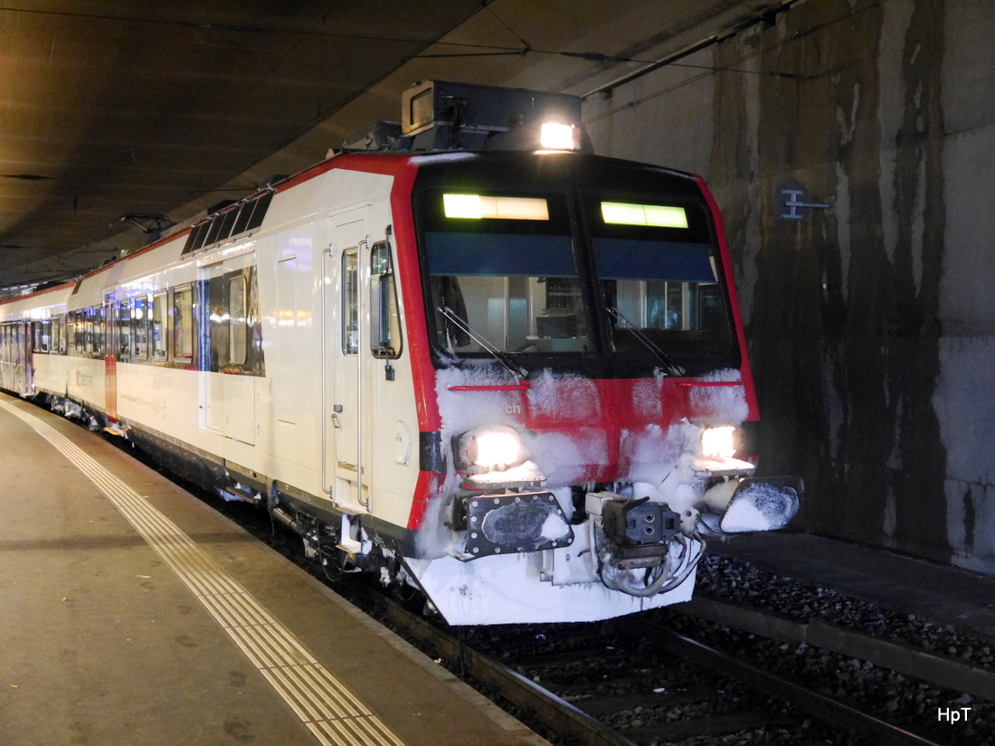
[[[0,744],[548,746],[152,469],[0,394]]]

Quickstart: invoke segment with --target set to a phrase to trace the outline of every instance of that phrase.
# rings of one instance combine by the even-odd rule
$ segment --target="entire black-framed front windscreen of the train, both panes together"
[[[505,367],[553,364],[612,377],[738,365],[697,185],[550,166],[548,188],[532,189],[529,163],[501,175],[510,186],[489,187],[481,165],[457,176],[446,164],[415,200],[437,363],[506,355]],[[585,183],[596,188],[578,188]]]

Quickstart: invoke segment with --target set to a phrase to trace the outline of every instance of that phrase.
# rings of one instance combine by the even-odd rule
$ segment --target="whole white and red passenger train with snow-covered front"
[[[703,180],[596,155],[581,99],[432,81],[300,173],[0,303],[0,388],[269,511],[449,624],[691,598],[785,526]]]

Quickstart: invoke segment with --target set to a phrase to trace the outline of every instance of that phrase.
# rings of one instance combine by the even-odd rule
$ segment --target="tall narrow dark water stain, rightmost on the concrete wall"
[[[915,3],[902,60],[903,117],[896,136],[895,331],[890,380],[897,396],[899,462],[889,471],[896,495],[896,540],[949,559],[946,449],[933,408],[940,373],[939,317],[943,235],[943,3]]]

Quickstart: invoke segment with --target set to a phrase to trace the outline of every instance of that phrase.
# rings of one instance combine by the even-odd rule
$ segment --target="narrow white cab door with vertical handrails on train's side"
[[[356,510],[370,507],[370,353],[362,343],[368,303],[361,290],[369,278],[366,226],[365,207],[333,217],[332,242],[323,255],[324,489],[339,505]]]

